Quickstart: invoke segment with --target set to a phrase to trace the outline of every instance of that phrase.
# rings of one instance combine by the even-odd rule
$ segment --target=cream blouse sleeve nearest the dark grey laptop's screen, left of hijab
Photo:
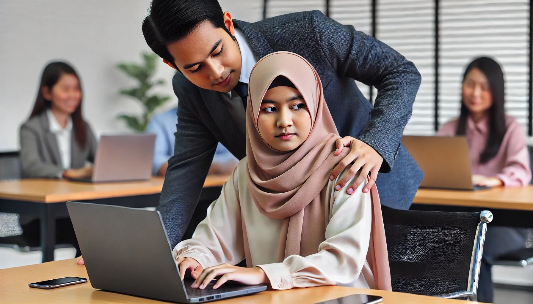
[[[174,258],[193,258],[205,269],[244,259],[243,230],[238,198],[237,168],[222,187],[220,197],[207,208],[190,240],[176,245]]]

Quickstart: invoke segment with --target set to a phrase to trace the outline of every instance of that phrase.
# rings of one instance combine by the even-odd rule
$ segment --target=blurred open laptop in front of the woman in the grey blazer
[[[102,135],[94,157],[93,175],[76,182],[147,180],[152,174],[155,134]]]

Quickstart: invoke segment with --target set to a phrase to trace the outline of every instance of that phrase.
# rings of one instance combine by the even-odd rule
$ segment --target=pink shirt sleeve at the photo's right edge
[[[505,165],[496,177],[502,180],[506,187],[525,186],[531,180],[526,136],[522,127],[516,122],[509,127],[507,132],[510,134],[505,141]]]

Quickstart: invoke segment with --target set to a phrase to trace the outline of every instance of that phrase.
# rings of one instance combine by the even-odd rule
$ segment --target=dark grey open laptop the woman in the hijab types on
[[[67,202],[87,274],[95,289],[180,303],[253,294],[266,285],[225,283],[213,289],[181,281],[159,211]]]

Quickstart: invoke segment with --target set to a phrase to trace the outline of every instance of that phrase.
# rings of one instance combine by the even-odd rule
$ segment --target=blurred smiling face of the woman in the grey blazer
[[[52,87],[43,87],[43,96],[51,102],[51,108],[64,114],[72,114],[82,101],[82,89],[75,75],[63,74]]]

